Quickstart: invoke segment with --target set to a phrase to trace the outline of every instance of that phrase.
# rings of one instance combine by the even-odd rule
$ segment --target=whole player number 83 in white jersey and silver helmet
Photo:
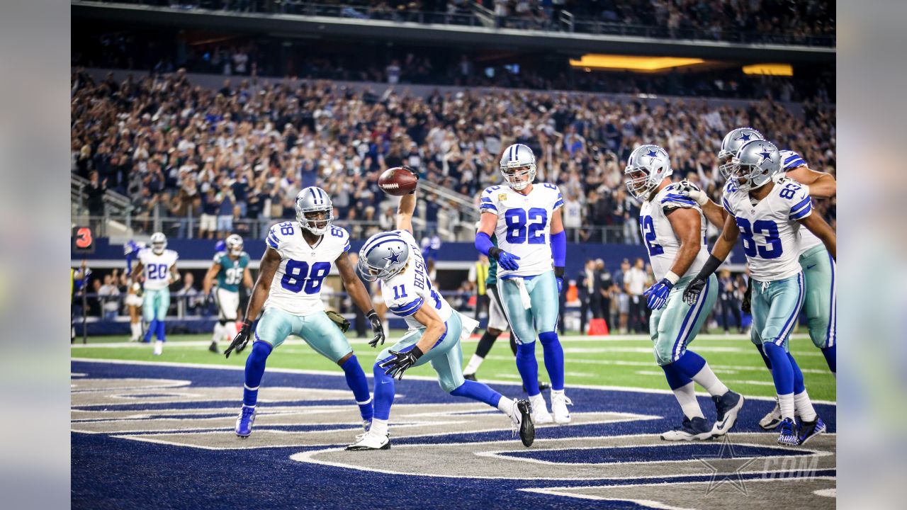
[[[722,197],[727,221],[684,299],[692,302],[698,298],[737,237],[742,237],[753,280],[753,341],[771,362],[781,410],[778,443],[800,445],[825,430],[806,394],[803,373],[787,348],[805,298],[800,230],[812,231],[833,259],[836,240],[828,223],[812,214],[813,201],[802,184],[772,179],[780,165],[781,154],[771,142],[754,140],[740,147]],[[795,414],[800,417],[799,426]]]

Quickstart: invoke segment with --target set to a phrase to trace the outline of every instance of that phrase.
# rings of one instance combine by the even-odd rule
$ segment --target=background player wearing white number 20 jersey
[[[154,355],[160,356],[164,348],[167,309],[170,309],[170,285],[180,280],[176,261],[180,258],[174,250],[167,250],[167,236],[163,232],[151,234],[151,249],[139,251],[139,263],[132,269],[132,281],[144,279],[141,308],[148,323],[145,341],[151,341],[151,334],[157,336]]]

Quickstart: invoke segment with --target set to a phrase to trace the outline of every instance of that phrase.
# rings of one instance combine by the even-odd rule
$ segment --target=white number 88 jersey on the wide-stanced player
[[[346,230],[331,225],[315,246],[309,246],[299,224],[287,221],[272,226],[265,242],[280,254],[280,266],[271,280],[265,308],[299,316],[323,311],[321,284],[334,260],[349,250]]]

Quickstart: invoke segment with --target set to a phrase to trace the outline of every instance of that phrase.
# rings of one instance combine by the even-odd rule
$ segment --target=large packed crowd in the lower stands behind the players
[[[816,170],[834,173],[833,105],[806,102],[803,112],[768,101],[744,107],[702,100],[651,106],[612,103],[587,93],[516,90],[406,93],[378,96],[336,83],[225,80],[219,90],[174,74],[109,75],[95,83],[73,74],[73,172],[132,200],[133,217],[150,221],[155,207],[181,219],[171,235],[254,235],[249,223],[295,216],[297,191],[318,185],[333,197],[340,221],[392,223],[378,190],[386,168],[408,164],[423,179],[477,200],[500,183],[499,152],[530,145],[539,181],[564,193],[566,219],[578,240],[603,240],[612,226],[619,240],[637,242],[638,204],[625,192],[623,167],[640,143],[671,154],[675,178],[696,181],[715,198],[722,179],[714,155],[727,131],[754,126],[779,147],[800,152]],[[428,197],[432,199],[432,197]],[[457,222],[443,201],[424,201],[425,221]],[[834,200],[819,206],[834,226]],[[444,219],[442,219],[444,217]],[[353,230],[367,236],[370,230]],[[614,241],[615,239],[609,239]]]

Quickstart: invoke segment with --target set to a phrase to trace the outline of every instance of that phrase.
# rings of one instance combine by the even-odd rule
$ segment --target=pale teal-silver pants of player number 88
[[[281,309],[265,309],[255,328],[255,341],[265,341],[278,348],[289,335],[306,340],[309,347],[335,363],[353,352],[346,335],[323,311],[300,316]]]

